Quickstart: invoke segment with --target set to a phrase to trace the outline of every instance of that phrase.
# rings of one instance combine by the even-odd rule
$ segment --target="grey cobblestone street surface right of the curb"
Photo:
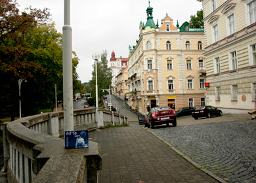
[[[227,182],[256,182],[255,120],[148,130]]]

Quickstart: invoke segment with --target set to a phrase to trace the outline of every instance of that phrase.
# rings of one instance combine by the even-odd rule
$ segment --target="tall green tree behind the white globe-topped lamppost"
[[[100,56],[100,61],[97,63],[97,80],[98,80],[98,98],[102,98],[101,89],[107,89],[111,85],[112,80],[112,71],[108,67],[108,60],[106,59],[108,53],[106,50],[103,50],[103,53]],[[95,75],[95,63],[93,64],[93,78],[90,80],[90,88],[92,97],[96,99],[95,85],[96,85],[96,75]]]

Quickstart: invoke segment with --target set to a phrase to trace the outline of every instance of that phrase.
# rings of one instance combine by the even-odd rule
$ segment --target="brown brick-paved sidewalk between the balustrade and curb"
[[[89,133],[102,150],[99,182],[218,182],[196,169],[138,122]]]

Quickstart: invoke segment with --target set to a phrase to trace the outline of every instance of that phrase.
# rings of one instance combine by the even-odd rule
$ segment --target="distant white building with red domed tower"
[[[116,90],[116,76],[121,72],[122,69],[127,67],[127,58],[116,58],[116,54],[113,50],[110,58],[110,68],[112,69],[112,88]]]

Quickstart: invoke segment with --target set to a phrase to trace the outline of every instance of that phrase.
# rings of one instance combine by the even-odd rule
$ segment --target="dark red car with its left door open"
[[[146,126],[154,128],[155,125],[172,123],[173,126],[177,125],[175,110],[170,107],[153,107],[150,109]]]

